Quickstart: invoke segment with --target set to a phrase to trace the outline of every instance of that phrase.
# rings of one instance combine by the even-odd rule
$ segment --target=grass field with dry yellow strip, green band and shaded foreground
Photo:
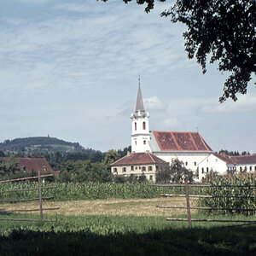
[[[195,202],[194,202],[195,203]],[[183,198],[55,201],[60,206],[44,215],[54,223],[0,221],[0,255],[255,255],[256,225],[167,222],[185,217]],[[38,207],[35,203],[6,204],[2,209]],[[0,218],[38,218],[38,214],[9,214]],[[193,212],[194,218],[213,218]],[[255,217],[214,216],[224,219]]]

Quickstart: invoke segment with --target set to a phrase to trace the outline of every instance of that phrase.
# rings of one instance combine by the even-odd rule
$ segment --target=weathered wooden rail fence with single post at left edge
[[[43,197],[42,196],[42,190],[43,189],[55,189],[56,187],[49,186],[49,187],[42,187],[42,178],[46,177],[53,177],[53,174],[46,174],[46,175],[41,175],[40,171],[38,171],[38,176],[34,177],[20,177],[20,178],[15,178],[15,179],[9,179],[9,180],[3,180],[0,181],[0,183],[12,183],[12,182],[22,182],[26,180],[38,180],[38,188],[37,189],[13,189],[13,190],[6,190],[6,191],[0,191],[0,203],[6,203],[6,202],[25,202],[25,201],[38,201],[39,207],[36,209],[16,209],[16,210],[5,210],[5,209],[0,209],[0,212],[40,212],[40,218],[39,219],[29,219],[29,218],[0,218],[0,220],[12,220],[12,221],[40,221],[40,222],[53,222],[55,220],[49,220],[49,219],[44,219],[43,217],[43,212],[44,211],[50,211],[50,210],[58,210],[60,207],[48,207],[48,208],[43,208],[43,200],[48,200],[48,199],[53,199],[53,196],[47,196]],[[12,192],[24,192],[24,191],[34,191],[38,190],[38,197],[37,198],[24,198],[24,199],[10,199],[10,200],[1,200],[1,194],[3,193],[12,193]]]

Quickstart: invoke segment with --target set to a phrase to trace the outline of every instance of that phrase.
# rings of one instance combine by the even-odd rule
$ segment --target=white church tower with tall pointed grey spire
[[[138,80],[137,103],[135,113],[131,113],[131,152],[150,151],[149,113],[145,113],[140,79]]]

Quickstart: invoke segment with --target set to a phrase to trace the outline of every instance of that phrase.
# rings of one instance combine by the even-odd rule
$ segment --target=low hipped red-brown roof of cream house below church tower
[[[151,153],[131,153],[115,161],[111,166],[130,166],[145,164],[168,164]]]

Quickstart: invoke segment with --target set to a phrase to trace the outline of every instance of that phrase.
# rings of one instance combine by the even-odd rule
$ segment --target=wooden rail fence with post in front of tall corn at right
[[[240,210],[240,211],[256,211],[256,208],[248,209],[248,208],[228,208],[228,207],[190,207],[189,198],[216,198],[216,197],[236,197],[236,198],[251,198],[256,199],[255,196],[242,196],[242,195],[189,195],[189,187],[248,187],[250,189],[256,189],[256,186],[252,185],[204,185],[204,184],[189,184],[188,181],[185,181],[184,184],[150,184],[149,186],[159,186],[159,187],[185,187],[186,194],[185,195],[174,195],[174,194],[160,194],[161,196],[170,196],[170,197],[186,197],[186,207],[169,207],[169,206],[157,206],[159,208],[169,208],[169,209],[187,209],[187,217],[188,218],[166,218],[168,221],[188,221],[189,228],[191,228],[191,223],[193,221],[196,222],[233,222],[233,223],[255,223],[253,220],[228,220],[228,219],[198,219],[191,218],[190,210]]]

